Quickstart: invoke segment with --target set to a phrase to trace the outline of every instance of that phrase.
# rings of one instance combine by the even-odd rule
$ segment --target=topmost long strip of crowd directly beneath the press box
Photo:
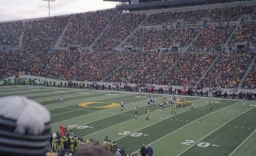
[[[230,22],[237,21],[241,15],[251,15],[255,6],[236,6],[216,9],[197,9],[194,11],[188,10],[184,12],[161,12],[152,14],[143,23],[143,26],[168,26],[174,23],[177,19],[183,19],[183,24],[197,24],[201,18],[211,18],[214,22]]]

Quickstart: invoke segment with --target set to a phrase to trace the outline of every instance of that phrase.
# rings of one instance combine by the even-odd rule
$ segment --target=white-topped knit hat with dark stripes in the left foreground
[[[50,113],[21,96],[0,98],[0,156],[45,156]]]

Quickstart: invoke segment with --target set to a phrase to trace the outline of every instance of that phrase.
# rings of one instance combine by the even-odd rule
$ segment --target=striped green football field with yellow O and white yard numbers
[[[60,94],[64,102],[60,102]],[[155,97],[156,106],[147,106],[149,94],[93,91],[52,87],[3,86],[0,97],[22,95],[38,101],[51,113],[51,131],[59,126],[78,137],[103,141],[108,136],[128,154],[151,145],[154,156],[255,156],[256,101],[202,97],[180,97],[195,105],[159,110],[163,96]],[[172,96],[166,95],[171,101]],[[124,101],[121,110],[120,101]],[[210,110],[208,101],[213,102]],[[138,107],[138,118],[134,109]],[[149,120],[145,113],[149,110]]]

